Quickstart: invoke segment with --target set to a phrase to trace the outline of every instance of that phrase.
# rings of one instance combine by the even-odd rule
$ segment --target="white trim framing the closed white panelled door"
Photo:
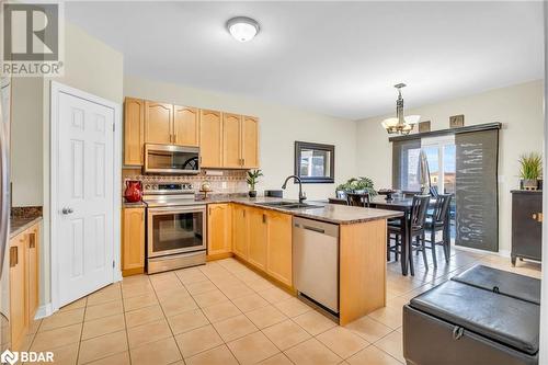
[[[59,309],[59,272],[57,252],[57,167],[58,167],[58,107],[59,94],[67,93],[77,98],[89,100],[93,103],[104,105],[114,110],[114,192],[113,192],[113,258],[115,261],[113,283],[122,280],[121,269],[121,215],[122,209],[122,107],[121,104],[90,94],[85,91],[68,87],[57,81],[50,81],[49,92],[49,242],[50,242],[50,275],[52,275],[52,312]]]

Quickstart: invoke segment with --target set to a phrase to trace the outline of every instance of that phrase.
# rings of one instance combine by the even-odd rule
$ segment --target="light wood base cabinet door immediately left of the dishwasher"
[[[266,272],[282,283],[293,286],[292,216],[266,212]]]

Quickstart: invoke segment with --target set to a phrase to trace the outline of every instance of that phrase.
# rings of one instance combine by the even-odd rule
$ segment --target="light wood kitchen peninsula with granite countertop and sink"
[[[279,205],[287,202],[286,206]],[[227,232],[227,229],[219,230],[216,224],[215,209],[231,207],[231,221],[228,228],[231,229],[230,254],[235,254],[259,271],[266,272],[270,276],[278,280],[287,287],[295,287],[295,276],[302,260],[296,260],[296,244],[298,237],[295,235],[295,221],[292,217],[311,219],[312,221],[328,223],[336,226],[338,229],[338,299],[339,299],[339,322],[341,326],[352,322],[380,307],[386,306],[386,237],[387,219],[399,217],[402,214],[393,210],[383,210],[374,208],[361,208],[343,205],[332,205],[319,202],[309,202],[309,206],[302,208],[288,208],[292,201],[281,198],[248,198],[248,197],[214,197],[205,201],[195,201],[194,204],[208,205],[208,227],[209,238],[208,250],[212,248],[212,240],[216,235]],[[295,205],[298,202],[293,202]],[[247,213],[246,213],[247,212]],[[293,220],[293,223],[292,223]],[[262,228],[270,226],[269,229]],[[313,229],[313,228],[312,228]],[[215,231],[213,231],[215,230]],[[316,229],[318,231],[318,229]],[[243,231],[243,233],[242,233]],[[313,235],[311,232],[310,235]],[[315,240],[311,237],[308,250],[315,249]],[[217,241],[227,240],[224,236]],[[243,242],[246,241],[246,242]],[[263,243],[265,242],[265,243]],[[284,250],[285,247],[285,251]],[[269,255],[272,250],[273,258]],[[336,251],[334,251],[336,254]],[[260,259],[260,258],[265,258]],[[287,258],[288,256],[288,258]],[[276,275],[279,272],[269,271],[269,265],[281,266],[281,260],[289,260],[285,272],[292,273]],[[319,261],[320,265],[323,261]],[[293,267],[290,267],[293,264]],[[275,267],[276,269],[276,267]],[[328,270],[328,267],[315,267],[316,270]],[[286,278],[284,281],[284,278]],[[336,281],[336,278],[335,278]],[[316,285],[321,286],[321,277],[318,277]]]

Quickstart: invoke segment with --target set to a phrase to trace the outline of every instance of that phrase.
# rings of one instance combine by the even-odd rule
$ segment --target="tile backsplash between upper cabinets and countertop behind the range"
[[[122,179],[124,186],[127,180],[138,180],[142,184],[158,182],[191,183],[196,193],[199,191],[202,183],[207,181],[213,193],[233,194],[248,192],[246,175],[246,170],[202,170],[195,175],[144,175],[138,169],[124,169]]]

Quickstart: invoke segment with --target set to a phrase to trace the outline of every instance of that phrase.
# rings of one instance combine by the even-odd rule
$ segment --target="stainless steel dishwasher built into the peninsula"
[[[293,218],[293,273],[299,295],[339,313],[339,226]]]

